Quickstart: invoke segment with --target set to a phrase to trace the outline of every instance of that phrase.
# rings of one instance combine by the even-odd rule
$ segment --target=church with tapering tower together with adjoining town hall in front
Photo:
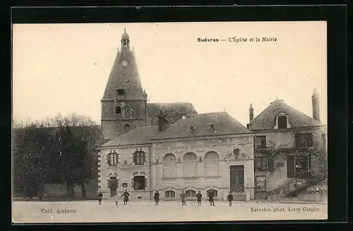
[[[111,198],[125,189],[131,201],[254,199],[254,135],[225,111],[197,113],[191,103],[150,104],[138,73],[131,40],[121,36],[101,100],[102,134],[97,149],[98,188]]]

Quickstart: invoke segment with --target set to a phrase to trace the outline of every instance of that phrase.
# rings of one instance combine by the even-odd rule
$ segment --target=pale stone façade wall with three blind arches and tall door
[[[233,150],[236,143],[243,143],[241,154],[234,158]],[[210,167],[205,156],[215,152],[218,156],[217,170]],[[193,153],[196,155],[196,174],[186,172],[184,155]],[[166,168],[164,156],[175,156],[175,170]],[[226,157],[229,156],[229,160]],[[244,135],[238,137],[213,137],[210,139],[174,140],[168,142],[154,142],[152,144],[152,182],[153,188],[158,189],[162,199],[166,198],[166,191],[173,191],[176,199],[179,199],[181,190],[201,191],[203,199],[207,199],[206,191],[210,188],[217,190],[217,199],[225,199],[230,188],[229,166],[244,166],[244,188],[248,199],[253,199],[253,136]],[[214,165],[215,166],[215,165]],[[166,175],[168,172],[169,175]],[[193,198],[194,199],[194,198]]]

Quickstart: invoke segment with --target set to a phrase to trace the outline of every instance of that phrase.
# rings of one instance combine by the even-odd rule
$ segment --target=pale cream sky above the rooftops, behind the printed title
[[[100,124],[100,99],[124,28],[150,103],[191,102],[198,113],[227,111],[246,125],[250,104],[257,116],[275,99],[312,116],[315,87],[327,123],[323,21],[16,24],[13,117],[77,113]],[[247,41],[228,42],[231,37]]]

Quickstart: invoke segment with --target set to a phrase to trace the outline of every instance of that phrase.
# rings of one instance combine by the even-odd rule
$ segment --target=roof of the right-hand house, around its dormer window
[[[275,127],[275,117],[279,113],[288,115],[288,123],[291,127],[313,127],[323,125],[318,120],[306,116],[304,113],[297,111],[283,101],[276,99],[270,106],[265,108],[256,118],[249,123],[250,130],[273,130]]]

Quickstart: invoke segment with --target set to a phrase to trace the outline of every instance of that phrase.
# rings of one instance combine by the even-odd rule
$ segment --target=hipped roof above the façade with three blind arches
[[[215,126],[210,128],[210,124]],[[191,126],[195,130],[191,131]],[[242,134],[250,132],[244,125],[229,116],[227,112],[193,114],[169,125],[155,139],[176,139],[183,137],[203,137],[212,135]]]

